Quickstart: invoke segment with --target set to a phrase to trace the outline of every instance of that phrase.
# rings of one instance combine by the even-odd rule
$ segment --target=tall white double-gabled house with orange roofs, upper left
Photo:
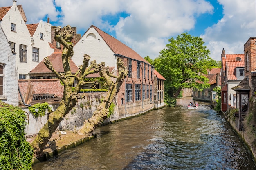
[[[13,53],[16,54],[16,69],[19,79],[28,79],[29,71],[44,57],[52,54],[51,24],[40,21],[26,25],[27,18],[21,5],[13,0],[10,7],[0,7],[0,20]]]

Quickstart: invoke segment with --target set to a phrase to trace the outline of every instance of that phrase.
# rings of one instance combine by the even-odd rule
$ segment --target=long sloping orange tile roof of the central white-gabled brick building
[[[144,63],[151,65],[150,63],[148,63],[148,61],[146,61],[144,58],[142,58],[137,52],[135,52],[134,50],[132,50],[130,47],[126,46],[125,44],[121,43],[120,41],[118,41],[117,39],[112,37],[111,35],[105,33],[104,31],[100,30],[96,26],[92,25],[92,26],[90,26],[90,28],[94,28],[99,33],[99,35],[104,39],[104,41],[109,46],[109,48],[116,55],[128,57],[130,59],[135,59],[137,61],[143,61]]]

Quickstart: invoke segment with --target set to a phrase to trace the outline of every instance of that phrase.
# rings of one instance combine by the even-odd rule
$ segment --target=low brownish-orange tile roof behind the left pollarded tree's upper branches
[[[58,73],[64,72],[61,56],[62,52],[54,52],[50,56],[48,56],[49,60],[52,62],[53,68]],[[52,71],[45,66],[43,61],[41,61],[34,69],[32,69],[30,73],[52,73]],[[78,69],[78,67],[72,60],[70,61],[70,69],[72,73],[75,73]]]

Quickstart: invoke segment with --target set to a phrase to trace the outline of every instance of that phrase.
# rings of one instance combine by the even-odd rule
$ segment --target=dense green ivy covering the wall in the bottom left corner
[[[0,169],[32,169],[33,149],[25,139],[25,111],[0,101]]]

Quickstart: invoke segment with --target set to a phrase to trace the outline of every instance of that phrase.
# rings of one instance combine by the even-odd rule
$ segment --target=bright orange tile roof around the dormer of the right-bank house
[[[244,61],[226,61],[226,74],[228,80],[237,80],[235,75],[236,67],[245,67]]]

